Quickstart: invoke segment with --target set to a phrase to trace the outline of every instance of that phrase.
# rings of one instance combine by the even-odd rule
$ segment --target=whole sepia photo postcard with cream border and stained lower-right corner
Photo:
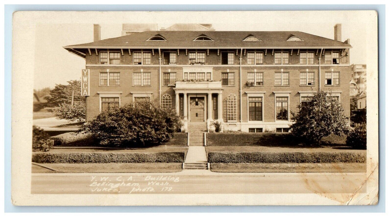
[[[16,12],[13,204],[377,204],[377,55],[375,11]]]

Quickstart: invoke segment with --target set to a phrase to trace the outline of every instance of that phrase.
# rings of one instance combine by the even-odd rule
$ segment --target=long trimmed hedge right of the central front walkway
[[[354,152],[209,152],[209,163],[365,163]]]

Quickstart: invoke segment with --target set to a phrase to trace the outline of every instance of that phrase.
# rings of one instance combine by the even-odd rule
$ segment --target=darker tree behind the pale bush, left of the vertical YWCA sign
[[[80,94],[80,80],[67,81],[68,85],[56,84],[50,91],[49,96],[45,96],[47,106],[57,107],[61,104],[71,104],[72,92],[74,91],[74,101],[85,101],[85,97]]]

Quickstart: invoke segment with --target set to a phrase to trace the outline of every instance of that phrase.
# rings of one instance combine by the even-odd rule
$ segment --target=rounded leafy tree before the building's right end
[[[338,100],[330,93],[318,91],[308,103],[298,105],[298,114],[291,112],[294,124],[290,131],[294,136],[301,137],[309,143],[318,145],[323,137],[335,134],[348,134],[348,118]]]

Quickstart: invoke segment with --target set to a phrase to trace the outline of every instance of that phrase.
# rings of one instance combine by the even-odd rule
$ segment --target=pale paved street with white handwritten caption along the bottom
[[[364,180],[365,173],[41,173],[32,174],[31,193],[354,193]]]

